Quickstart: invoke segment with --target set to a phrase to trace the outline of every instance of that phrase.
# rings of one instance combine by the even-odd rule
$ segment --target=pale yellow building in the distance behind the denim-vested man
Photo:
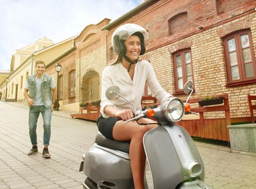
[[[7,88],[8,101],[24,102],[24,84],[28,75],[34,73],[36,60],[42,59],[46,64],[60,56],[67,49],[71,48],[73,37],[54,44],[52,40],[43,37],[35,43],[25,46],[12,55],[11,71],[6,82],[0,84],[1,91]]]

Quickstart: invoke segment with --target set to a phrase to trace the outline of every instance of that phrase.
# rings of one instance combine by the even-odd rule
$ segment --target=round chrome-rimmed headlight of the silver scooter
[[[180,98],[170,98],[164,103],[164,114],[170,122],[178,122],[184,115],[184,104]]]

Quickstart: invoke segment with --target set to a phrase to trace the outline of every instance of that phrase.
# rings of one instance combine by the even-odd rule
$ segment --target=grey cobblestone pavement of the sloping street
[[[95,123],[54,112],[50,159],[42,157],[42,117],[37,124],[39,152],[28,156],[28,108],[0,101],[0,188],[82,188],[81,155],[92,145]],[[206,183],[216,188],[256,188],[256,156],[196,142],[206,168]],[[147,169],[150,178],[149,168]],[[152,188],[152,181],[149,182]]]

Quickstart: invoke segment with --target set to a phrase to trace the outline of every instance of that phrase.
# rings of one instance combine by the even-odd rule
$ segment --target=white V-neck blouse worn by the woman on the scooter
[[[115,101],[107,99],[105,92],[107,87],[110,85],[119,86],[120,95],[135,105],[136,110],[142,109],[141,100],[145,84],[148,85],[152,94],[155,95],[155,97],[161,102],[171,96],[161,87],[156,79],[156,75],[151,64],[146,60],[140,60],[137,64],[135,64],[133,79],[131,79],[129,73],[121,63],[106,66],[101,79],[102,87],[100,113],[104,118],[109,117],[104,113],[104,108],[108,105],[112,105],[118,110],[134,110],[133,106],[127,103],[123,98],[118,98]]]

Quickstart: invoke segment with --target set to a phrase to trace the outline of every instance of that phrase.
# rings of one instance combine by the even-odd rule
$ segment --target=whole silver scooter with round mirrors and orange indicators
[[[191,81],[184,85],[184,93],[190,92],[189,97],[193,92],[192,86]],[[108,87],[106,97],[110,100],[124,98],[116,85]],[[188,105],[188,99],[185,105]],[[146,132],[143,138],[155,189],[212,189],[203,182],[204,165],[194,141],[183,127],[174,124],[182,119],[184,113],[194,113],[189,110],[188,108],[188,112],[185,112],[182,100],[172,97],[155,109],[135,110],[135,117],[125,122],[136,120],[143,125],[139,123],[139,119],[144,117],[153,117],[158,122],[159,126]],[[84,171],[87,176],[84,188],[135,188],[129,144],[129,141],[107,139],[98,132],[92,147],[82,156],[84,161],[81,162],[79,171]],[[148,188],[145,176],[144,181],[145,188]]]

